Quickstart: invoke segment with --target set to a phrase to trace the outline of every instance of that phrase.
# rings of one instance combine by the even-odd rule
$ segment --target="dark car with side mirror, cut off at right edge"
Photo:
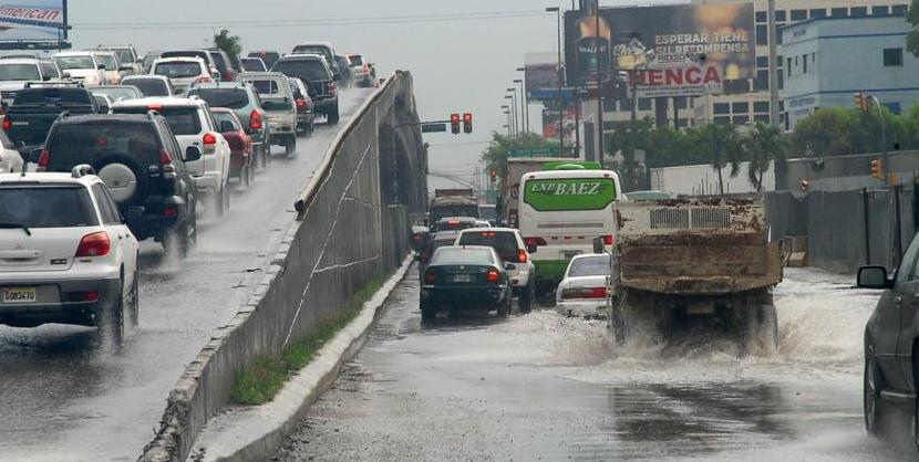
[[[865,266],[858,271],[858,286],[884,290],[865,328],[865,428],[885,435],[898,414],[891,408],[902,408],[912,417],[919,448],[919,237],[892,277],[882,266]]]

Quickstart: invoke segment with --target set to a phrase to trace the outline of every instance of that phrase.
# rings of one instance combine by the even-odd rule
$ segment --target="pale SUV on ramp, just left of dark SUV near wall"
[[[271,146],[283,146],[285,156],[297,156],[297,105],[287,76],[277,72],[250,72],[239,76],[258,93]]]

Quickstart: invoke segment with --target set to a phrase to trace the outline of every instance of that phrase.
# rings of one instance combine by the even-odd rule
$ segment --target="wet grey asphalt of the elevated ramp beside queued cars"
[[[295,218],[293,202],[339,127],[368,90],[347,91],[338,127],[317,126],[286,160],[238,186],[230,210],[203,210],[197,250],[186,260],[142,245],[140,326],[115,354],[95,329],[0,326],[0,461],[134,461],[186,365],[264,276]]]

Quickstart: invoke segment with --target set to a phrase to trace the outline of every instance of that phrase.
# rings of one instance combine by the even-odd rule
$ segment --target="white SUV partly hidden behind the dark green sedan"
[[[536,266],[529,259],[529,251],[524,244],[520,232],[510,228],[472,228],[460,232],[454,245],[485,245],[498,253],[502,261],[513,263],[509,270],[514,296],[517,297],[522,313],[529,313],[536,301]]]

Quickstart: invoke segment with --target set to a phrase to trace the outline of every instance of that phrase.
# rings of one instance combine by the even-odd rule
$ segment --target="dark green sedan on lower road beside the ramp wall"
[[[421,317],[433,319],[441,308],[497,309],[510,313],[512,287],[508,271],[493,248],[450,245],[437,249],[422,275]]]

